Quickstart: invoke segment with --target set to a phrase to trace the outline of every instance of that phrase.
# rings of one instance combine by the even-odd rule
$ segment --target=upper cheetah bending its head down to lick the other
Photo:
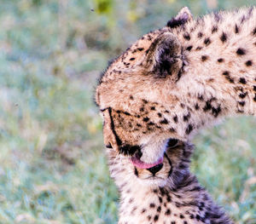
[[[256,113],[256,8],[193,18],[183,8],[133,43],[103,72],[96,104],[105,144],[141,148],[142,166],[164,158],[168,139],[190,141],[222,118]]]

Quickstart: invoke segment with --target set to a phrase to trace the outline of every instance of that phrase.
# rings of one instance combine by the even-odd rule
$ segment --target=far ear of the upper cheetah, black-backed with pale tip
[[[183,24],[191,20],[193,20],[193,14],[190,13],[188,7],[183,7],[183,9],[181,9],[174,18],[172,18],[172,20],[169,20],[167,22],[166,26],[169,26],[170,28],[175,28],[177,26],[182,26]]]

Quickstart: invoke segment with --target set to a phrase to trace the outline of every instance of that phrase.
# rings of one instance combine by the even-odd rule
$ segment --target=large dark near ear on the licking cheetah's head
[[[171,32],[157,37],[148,49],[148,66],[157,78],[171,77],[174,82],[181,74],[183,60],[182,47]]]

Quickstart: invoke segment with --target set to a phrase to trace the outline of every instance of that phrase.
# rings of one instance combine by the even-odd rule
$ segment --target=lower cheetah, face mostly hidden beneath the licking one
[[[118,223],[234,223],[189,172],[193,149],[170,139],[161,164],[141,169],[141,152],[127,158],[109,145],[109,169],[120,192]]]

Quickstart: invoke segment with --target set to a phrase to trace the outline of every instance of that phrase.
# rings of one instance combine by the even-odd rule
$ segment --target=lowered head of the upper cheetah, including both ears
[[[182,44],[172,28],[189,20],[192,15],[184,8],[168,26],[143,36],[113,60],[96,88],[105,145],[126,156],[140,149],[137,162],[142,168],[163,160],[167,163],[164,152],[169,139],[184,141],[182,129],[192,129],[180,123],[176,129],[172,124],[177,125],[177,115],[171,112],[177,106],[177,82],[186,65]]]

